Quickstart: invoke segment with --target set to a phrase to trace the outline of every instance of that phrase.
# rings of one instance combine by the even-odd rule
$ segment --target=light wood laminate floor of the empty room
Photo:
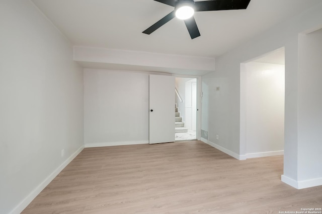
[[[280,213],[322,207],[281,181],[283,156],[236,160],[200,141],[85,148],[22,213]]]

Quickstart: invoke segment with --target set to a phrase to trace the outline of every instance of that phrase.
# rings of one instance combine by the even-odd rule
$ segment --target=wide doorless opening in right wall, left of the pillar
[[[284,153],[285,50],[240,65],[240,154]]]

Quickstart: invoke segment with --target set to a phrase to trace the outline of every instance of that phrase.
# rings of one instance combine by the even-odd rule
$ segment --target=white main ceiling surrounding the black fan
[[[191,40],[182,20],[141,33],[173,11],[153,0],[32,0],[77,46],[217,57],[321,0],[251,0],[247,10],[197,12],[201,36]]]

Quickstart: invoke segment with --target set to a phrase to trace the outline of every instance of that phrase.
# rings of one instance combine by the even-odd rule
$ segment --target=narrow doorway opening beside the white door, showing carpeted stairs
[[[197,139],[197,79],[176,77],[175,140]]]

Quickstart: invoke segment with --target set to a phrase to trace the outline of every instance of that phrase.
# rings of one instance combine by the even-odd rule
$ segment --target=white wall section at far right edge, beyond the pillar
[[[322,29],[299,36],[298,180],[322,181]],[[305,186],[304,186],[305,187]]]

